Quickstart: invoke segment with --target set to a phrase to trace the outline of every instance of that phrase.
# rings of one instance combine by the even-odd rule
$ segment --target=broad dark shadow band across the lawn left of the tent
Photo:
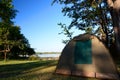
[[[20,64],[0,65],[0,78],[14,77],[23,74],[27,70],[34,68],[43,69],[49,66],[53,66],[57,61],[36,61]],[[34,71],[34,70],[32,70]]]

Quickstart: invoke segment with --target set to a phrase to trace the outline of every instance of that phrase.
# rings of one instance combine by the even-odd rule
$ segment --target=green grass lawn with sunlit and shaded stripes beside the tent
[[[0,80],[98,80],[53,74],[57,61],[0,61]],[[120,63],[118,63],[120,69]]]

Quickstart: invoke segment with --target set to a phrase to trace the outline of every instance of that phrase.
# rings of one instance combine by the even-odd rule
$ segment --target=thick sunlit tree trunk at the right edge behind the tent
[[[107,0],[107,3],[113,21],[116,49],[120,55],[120,0]]]

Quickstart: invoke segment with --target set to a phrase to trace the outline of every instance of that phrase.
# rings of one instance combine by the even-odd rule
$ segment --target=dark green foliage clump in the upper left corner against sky
[[[12,5],[12,0],[0,0],[0,19],[7,24],[13,23],[17,10]]]

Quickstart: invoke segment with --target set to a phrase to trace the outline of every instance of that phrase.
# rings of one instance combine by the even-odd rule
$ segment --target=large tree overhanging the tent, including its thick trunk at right
[[[92,26],[93,33],[102,29],[107,44],[114,31],[116,48],[120,52],[120,0],[54,0],[54,2],[62,4],[62,12],[72,19],[68,28],[77,27],[85,30]]]

